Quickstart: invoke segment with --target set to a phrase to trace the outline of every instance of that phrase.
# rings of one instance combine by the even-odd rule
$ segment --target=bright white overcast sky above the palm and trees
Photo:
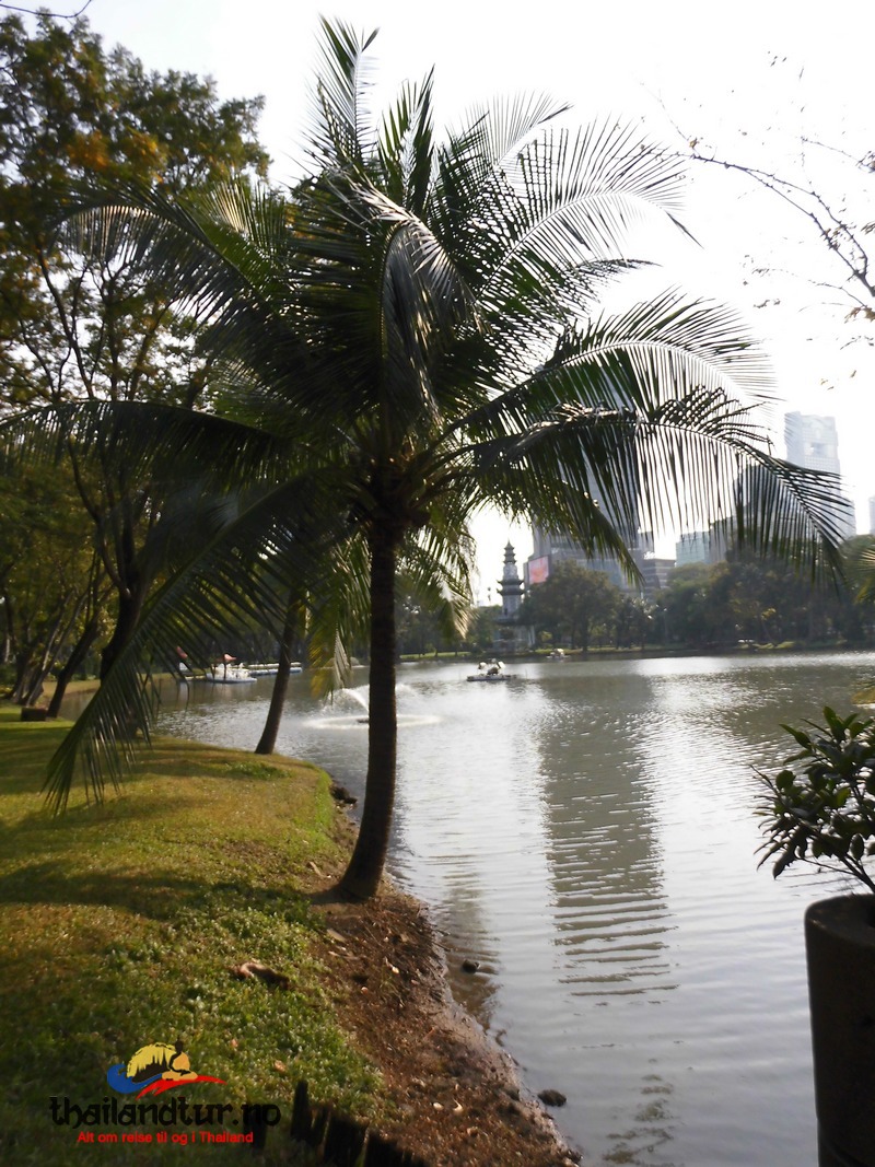
[[[80,2],[50,7],[65,13]],[[847,0],[834,18],[822,8],[806,16],[798,0],[539,0],[513,12],[497,0],[91,0],[86,11],[107,46],[124,44],[149,69],[209,75],[226,98],[264,95],[260,137],[278,180],[298,173],[302,156],[320,15],[379,28],[377,107],[434,67],[439,127],[496,95],[547,92],[572,104],[568,119],[578,124],[617,117],[676,149],[696,139],[713,156],[813,180],[836,205],[849,200],[852,214],[875,186],[874,176],[867,191],[840,153],[875,149],[870,0]],[[803,138],[828,148],[803,147]],[[785,411],[835,417],[847,491],[867,531],[875,348],[866,329],[846,321],[849,303],[826,286],[842,273],[805,219],[722,168],[691,166],[681,217],[695,243],[652,240],[663,286],[732,305],[762,338],[780,398],[772,406],[778,454]],[[504,544],[513,541],[522,562],[532,540],[527,529],[495,517],[475,533],[485,600]]]

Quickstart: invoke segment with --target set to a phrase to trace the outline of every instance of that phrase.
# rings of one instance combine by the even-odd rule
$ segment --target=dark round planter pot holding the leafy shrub
[[[875,1167],[875,895],[805,913],[820,1167]]]

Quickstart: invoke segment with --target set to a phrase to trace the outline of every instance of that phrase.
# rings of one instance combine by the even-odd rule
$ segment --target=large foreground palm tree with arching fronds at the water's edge
[[[369,630],[365,799],[341,885],[365,899],[392,819],[401,569],[461,619],[485,506],[630,572],[639,525],[733,520],[748,545],[816,572],[835,565],[838,531],[835,484],[770,450],[752,412],[766,368],[730,313],[677,292],[600,307],[637,266],[629,228],[677,222],[671,159],[612,123],[560,128],[564,107],[540,98],[475,111],[439,141],[430,76],[372,120],[372,37],[322,32],[304,182],[197,201],[116,190],[76,219],[83,244],[173,277],[224,362],[214,415],[113,407],[118,447],[212,456],[217,482],[249,494],[156,599],[51,792],[63,803],[80,755],[99,790],[120,727],[147,720],[145,697],[131,700],[136,654],[242,595],[280,620],[290,575],[335,662]],[[80,414],[56,424],[79,442],[91,432]]]

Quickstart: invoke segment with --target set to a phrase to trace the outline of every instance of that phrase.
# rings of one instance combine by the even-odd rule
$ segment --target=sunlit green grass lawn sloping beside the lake
[[[182,1040],[194,1070],[225,1079],[163,1099],[226,1103],[235,1117],[270,1103],[285,1130],[306,1077],[313,1097],[368,1117],[378,1078],[337,1028],[313,955],[323,925],[298,890],[308,861],[338,859],[327,776],[160,741],[120,797],[89,806],[77,796],[52,818],[40,787],[63,726],[16,715],[0,712],[0,1161],[251,1156],[242,1146],[88,1146],[51,1121],[50,1098],[102,1103],[113,1095],[108,1067],[153,1042]],[[229,966],[245,959],[287,973],[289,991],[236,980]],[[288,1153],[276,1132],[271,1145]]]

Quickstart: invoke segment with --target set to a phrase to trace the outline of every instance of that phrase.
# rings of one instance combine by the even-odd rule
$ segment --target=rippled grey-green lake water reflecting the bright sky
[[[400,670],[391,860],[459,1000],[531,1090],[567,1096],[584,1163],[813,1167],[802,916],[846,885],[757,869],[754,767],[791,753],[782,721],[848,708],[875,654],[469,671]],[[279,742],[357,794],[365,685],[320,706],[293,678]],[[268,696],[194,686],[161,728],[252,748]]]

